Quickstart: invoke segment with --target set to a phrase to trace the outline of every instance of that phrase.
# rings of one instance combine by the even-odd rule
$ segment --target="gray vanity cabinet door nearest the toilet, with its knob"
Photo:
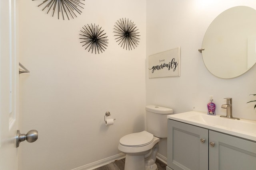
[[[208,170],[208,129],[168,119],[167,166]]]

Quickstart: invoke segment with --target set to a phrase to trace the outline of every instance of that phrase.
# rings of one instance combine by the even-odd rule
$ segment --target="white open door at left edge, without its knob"
[[[16,0],[0,0],[0,170],[18,170]]]

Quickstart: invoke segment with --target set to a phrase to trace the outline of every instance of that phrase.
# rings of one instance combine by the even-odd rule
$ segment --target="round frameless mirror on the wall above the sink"
[[[256,62],[256,10],[236,6],[222,12],[208,27],[202,57],[206,68],[220,78],[234,78]]]

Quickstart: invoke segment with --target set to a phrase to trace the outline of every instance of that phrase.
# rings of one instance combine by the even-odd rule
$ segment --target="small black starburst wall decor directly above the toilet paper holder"
[[[81,39],[80,43],[83,44],[82,47],[86,47],[85,50],[88,49],[88,52],[91,50],[92,53],[95,51],[95,54],[96,52],[100,54],[100,52],[103,53],[105,51],[104,49],[108,46],[108,36],[105,36],[104,29],[99,28],[99,25],[95,26],[94,23],[94,25],[84,25],[80,31],[82,32],[82,34],[79,34],[82,36],[79,38]]]

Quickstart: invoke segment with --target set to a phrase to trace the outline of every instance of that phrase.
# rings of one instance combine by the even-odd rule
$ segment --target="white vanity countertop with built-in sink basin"
[[[228,119],[199,111],[168,115],[167,118],[256,141],[256,121]]]

